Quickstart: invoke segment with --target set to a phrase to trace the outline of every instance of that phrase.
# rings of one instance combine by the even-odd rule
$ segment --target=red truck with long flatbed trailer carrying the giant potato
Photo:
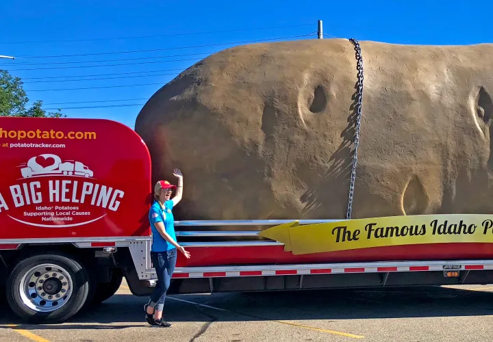
[[[135,131],[111,120],[0,118],[0,166],[0,294],[16,315],[66,321],[114,295],[123,277],[134,295],[149,295],[155,180]],[[380,234],[371,223],[348,231],[357,221],[178,220],[177,239],[192,258],[179,255],[168,293],[493,282],[492,244],[481,237],[330,247]],[[413,235],[412,226],[403,231]],[[418,226],[414,233],[409,239],[423,238]],[[324,244],[320,234],[335,240]]]

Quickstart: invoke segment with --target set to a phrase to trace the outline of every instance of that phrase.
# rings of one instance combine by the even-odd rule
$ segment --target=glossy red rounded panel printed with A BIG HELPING
[[[0,118],[1,239],[149,235],[151,158],[110,120]]]

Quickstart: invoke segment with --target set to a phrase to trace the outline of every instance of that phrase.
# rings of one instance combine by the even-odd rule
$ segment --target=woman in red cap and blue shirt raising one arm
[[[149,211],[149,222],[152,230],[151,260],[157,274],[156,287],[145,304],[146,321],[151,326],[170,327],[171,324],[162,319],[166,291],[175,270],[177,250],[190,259],[190,252],[179,246],[175,235],[175,219],[171,210],[181,200],[183,194],[183,174],[178,169],[173,171],[178,179],[178,187],[168,181],[158,181],[154,186],[154,203]],[[177,189],[171,199],[173,189]]]

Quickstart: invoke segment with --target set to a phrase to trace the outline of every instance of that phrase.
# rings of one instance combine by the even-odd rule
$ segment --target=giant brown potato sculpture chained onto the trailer
[[[493,45],[361,42],[352,218],[493,213]],[[345,218],[357,101],[349,40],[216,53],[136,120],[154,179],[185,175],[181,220]]]

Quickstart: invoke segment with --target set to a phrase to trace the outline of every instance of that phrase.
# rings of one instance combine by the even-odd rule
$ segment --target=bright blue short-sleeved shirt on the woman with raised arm
[[[167,200],[166,202],[164,202],[164,208],[161,207],[160,203],[157,202],[157,200],[151,206],[151,210],[149,211],[149,222],[151,223],[153,238],[151,251],[153,252],[164,252],[166,250],[172,250],[173,248],[176,248],[168,241],[166,241],[166,239],[161,236],[161,234],[154,226],[155,222],[164,222],[166,233],[168,233],[168,235],[176,241],[175,218],[173,216],[173,213],[171,212],[172,209],[172,200]]]

